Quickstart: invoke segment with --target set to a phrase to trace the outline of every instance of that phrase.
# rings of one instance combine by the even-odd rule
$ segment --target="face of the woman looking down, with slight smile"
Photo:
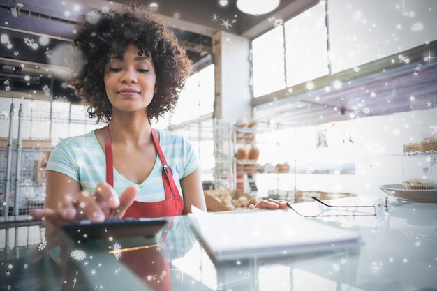
[[[145,111],[156,92],[155,67],[135,45],[128,45],[119,56],[112,56],[103,74],[106,94],[114,110]]]

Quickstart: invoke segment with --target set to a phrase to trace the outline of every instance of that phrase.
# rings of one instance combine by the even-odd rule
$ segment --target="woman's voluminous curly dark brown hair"
[[[151,54],[155,66],[157,91],[147,109],[149,121],[173,113],[191,73],[185,48],[156,13],[136,5],[91,10],[78,24],[74,52],[66,61],[72,73],[68,84],[89,106],[89,117],[97,118],[96,123],[109,122],[112,114],[103,82],[105,66],[111,55],[123,53],[131,43]]]

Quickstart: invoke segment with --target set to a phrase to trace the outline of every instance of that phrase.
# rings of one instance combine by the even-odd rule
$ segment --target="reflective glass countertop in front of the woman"
[[[363,206],[380,197],[324,202]],[[151,238],[72,241],[59,232],[56,244],[45,241],[42,223],[3,218],[0,290],[437,290],[437,204],[387,202],[379,216],[337,216],[372,214],[373,207],[292,204],[300,214],[324,215],[301,219],[360,232],[358,247],[228,262],[209,257],[187,216],[166,218],[169,223]]]

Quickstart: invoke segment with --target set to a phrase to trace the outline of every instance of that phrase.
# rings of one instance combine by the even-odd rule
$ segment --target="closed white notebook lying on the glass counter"
[[[298,218],[285,210],[188,214],[193,231],[213,261],[279,257],[359,247],[359,232]]]

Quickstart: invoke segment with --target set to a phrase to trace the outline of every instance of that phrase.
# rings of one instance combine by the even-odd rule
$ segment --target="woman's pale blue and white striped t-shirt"
[[[182,195],[179,180],[199,167],[198,156],[191,142],[182,135],[159,130],[158,136],[165,159],[172,169],[173,178]],[[94,193],[96,185],[106,181],[105,153],[98,144],[94,130],[61,140],[50,154],[47,170],[66,174],[79,182],[82,190]],[[124,178],[114,169],[114,190],[120,195],[128,186],[137,186],[140,191],[135,200],[140,202],[165,200],[162,170],[163,163],[157,156],[149,177],[138,185]]]

